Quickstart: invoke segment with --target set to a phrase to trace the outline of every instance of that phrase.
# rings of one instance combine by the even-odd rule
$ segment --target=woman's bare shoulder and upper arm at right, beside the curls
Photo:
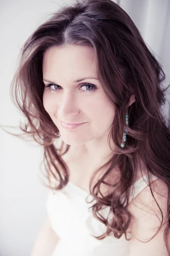
[[[164,244],[164,229],[167,226],[167,197],[167,185],[158,178],[151,183],[151,189],[149,186],[144,188],[128,205],[128,210],[132,215],[129,229],[131,233],[130,256],[168,255]],[[159,230],[161,221],[162,227]],[[155,237],[152,239],[153,236]]]

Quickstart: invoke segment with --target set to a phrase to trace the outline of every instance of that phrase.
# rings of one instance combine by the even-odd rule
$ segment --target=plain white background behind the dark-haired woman
[[[0,1],[0,125],[18,126],[23,120],[9,94],[20,48],[48,14],[67,2],[72,1]],[[170,83],[170,1],[115,2],[130,15],[163,65],[167,86]],[[164,108],[166,115],[168,107],[166,104]],[[20,133],[17,129],[8,131]],[[0,129],[0,256],[29,256],[45,221],[47,189],[41,183],[42,157],[43,149],[39,145]]]

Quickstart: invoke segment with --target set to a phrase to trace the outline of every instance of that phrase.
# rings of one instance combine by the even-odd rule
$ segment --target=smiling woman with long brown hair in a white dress
[[[28,38],[12,95],[49,188],[31,256],[170,256],[164,79],[111,0],[62,7]]]

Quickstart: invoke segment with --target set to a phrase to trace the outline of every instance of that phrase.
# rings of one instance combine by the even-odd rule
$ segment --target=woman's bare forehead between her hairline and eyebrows
[[[97,58],[93,47],[67,45],[48,48],[43,55],[43,77],[70,78],[97,76]]]

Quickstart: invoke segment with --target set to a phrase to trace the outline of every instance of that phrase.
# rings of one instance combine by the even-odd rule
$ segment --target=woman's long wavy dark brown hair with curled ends
[[[167,226],[164,231],[164,241],[168,248],[170,124],[161,108],[166,100],[167,89],[163,89],[161,84],[165,74],[131,18],[111,0],[77,0],[62,6],[32,33],[20,51],[19,65],[11,83],[11,98],[26,117],[25,124],[23,127],[20,125],[20,128],[44,148],[43,163],[49,182],[45,186],[59,190],[69,180],[68,166],[62,155],[70,145],[66,145],[65,150],[63,143],[59,148],[56,147],[59,130],[45,111],[42,101],[43,53],[49,47],[66,44],[94,47],[102,88],[115,107],[108,136],[109,146],[111,139],[115,144],[114,154],[94,172],[90,182],[90,192],[96,200],[91,207],[93,214],[107,227],[107,231],[96,239],[104,239],[111,232],[118,239],[125,234],[127,239],[126,231],[132,217],[127,209],[130,186],[136,178],[137,161],[141,159],[147,169],[148,186],[151,184],[150,175],[155,175],[168,188]],[[132,93],[136,101],[128,107],[127,126],[125,116]],[[125,129],[127,140],[122,148],[120,145]],[[107,180],[114,166],[119,166],[121,170],[119,181],[109,184]],[[105,172],[92,187],[92,180],[103,169]],[[56,180],[55,186],[52,180]],[[102,183],[108,189],[112,186],[112,192],[107,196],[103,196],[100,191]],[[152,193],[151,187],[150,191]],[[111,223],[98,214],[105,206],[111,207]],[[168,253],[170,255],[169,249]]]

